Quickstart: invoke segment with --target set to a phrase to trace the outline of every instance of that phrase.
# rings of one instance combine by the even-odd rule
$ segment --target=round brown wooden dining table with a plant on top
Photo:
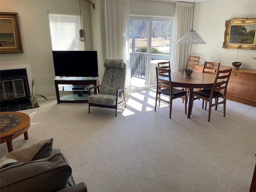
[[[188,118],[190,118],[192,104],[194,100],[193,90],[194,88],[212,88],[216,74],[210,73],[196,73],[194,75],[186,77],[181,72],[171,72],[171,81],[173,87],[189,88],[188,96]]]

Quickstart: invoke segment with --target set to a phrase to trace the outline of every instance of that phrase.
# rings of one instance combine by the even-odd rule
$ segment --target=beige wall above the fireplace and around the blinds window
[[[92,5],[81,1],[83,26],[86,32],[85,50],[92,50],[90,9]],[[29,64],[34,78],[34,94],[56,96],[54,65],[48,10],[79,11],[76,0],[1,0],[1,12],[18,12],[24,53],[1,54],[3,66]],[[31,84],[32,82],[30,82]]]

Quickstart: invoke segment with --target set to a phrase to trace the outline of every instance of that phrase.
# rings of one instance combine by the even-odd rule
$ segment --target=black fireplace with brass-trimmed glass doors
[[[1,108],[30,103],[26,68],[0,71]]]

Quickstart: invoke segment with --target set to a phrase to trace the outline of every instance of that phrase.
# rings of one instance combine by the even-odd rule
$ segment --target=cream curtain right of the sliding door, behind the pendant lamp
[[[186,68],[191,45],[176,44],[192,27],[193,3],[176,3],[174,35],[172,37],[171,69],[173,72]]]

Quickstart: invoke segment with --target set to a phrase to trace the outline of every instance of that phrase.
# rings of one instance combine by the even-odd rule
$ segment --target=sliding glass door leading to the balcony
[[[132,91],[156,86],[155,67],[170,60],[172,20],[130,16]]]

